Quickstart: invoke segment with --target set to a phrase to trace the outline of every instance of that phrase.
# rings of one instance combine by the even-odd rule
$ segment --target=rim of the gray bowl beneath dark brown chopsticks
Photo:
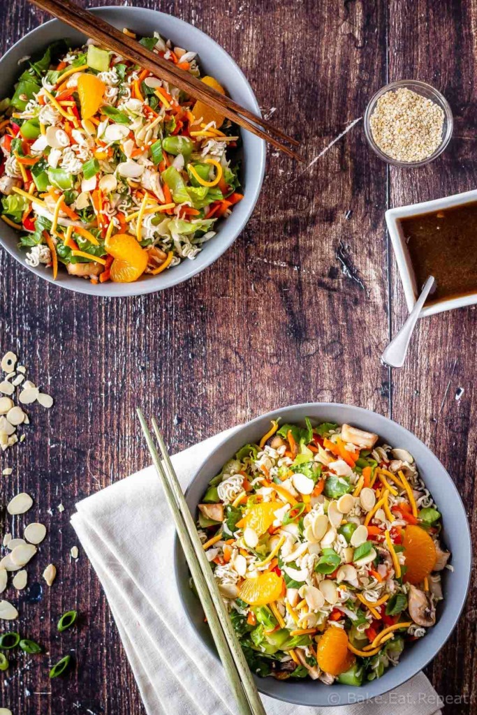
[[[179,29],[178,34],[180,34],[180,26],[187,26],[188,29],[192,30],[195,34],[197,34],[197,44],[200,44],[200,40],[202,39],[202,41],[205,41],[207,42],[207,44],[212,45],[215,51],[217,51],[217,54],[219,54],[219,56],[222,55],[222,58],[226,58],[230,62],[230,66],[236,72],[238,77],[240,77],[242,87],[243,89],[245,89],[245,92],[247,94],[247,102],[245,103],[245,106],[252,112],[255,112],[255,114],[257,114],[258,116],[262,116],[257,97],[255,97],[255,92],[253,92],[250,83],[248,82],[247,78],[245,77],[245,74],[243,73],[242,69],[240,69],[240,66],[238,66],[235,59],[233,59],[232,56],[230,56],[230,54],[228,54],[228,52],[220,44],[218,44],[218,42],[216,42],[214,39],[212,39],[212,37],[207,35],[204,31],[202,31],[195,25],[192,25],[189,22],[182,20],[175,15],[171,15],[147,7],[104,5],[88,9],[92,13],[97,13],[99,15],[108,14],[108,12],[114,12],[117,13],[119,16],[124,16],[124,18],[127,18],[129,22],[131,21],[133,14],[136,16],[142,15],[144,17],[150,14],[154,14],[154,16],[157,17],[157,20],[155,21],[155,24],[157,24],[157,26],[160,26],[161,20],[163,22],[172,21],[173,23],[177,24],[177,27]],[[15,44],[13,44],[4,53],[4,55],[0,57],[0,66],[5,59],[11,56],[11,54],[15,54],[15,52],[18,51],[19,46],[21,44],[23,44],[25,41],[28,42],[28,39],[30,39],[34,34],[39,31],[45,31],[44,29],[48,31],[48,28],[55,27],[57,25],[64,25],[65,27],[68,27],[59,19],[53,18],[43,24],[37,25],[29,32],[21,36],[15,42]],[[71,31],[74,30],[71,29]],[[246,130],[244,129],[242,131],[245,132]],[[64,278],[66,280],[54,280],[51,271],[41,270],[41,267],[32,267],[29,266],[26,262],[21,261],[21,257],[19,257],[19,255],[17,255],[17,253],[15,252],[14,245],[10,245],[9,240],[6,240],[2,235],[1,228],[4,227],[3,221],[0,225],[0,245],[2,248],[4,248],[4,250],[6,250],[6,252],[9,253],[9,255],[11,255],[11,257],[13,257],[21,265],[21,267],[28,269],[30,272],[34,273],[39,278],[46,280],[47,282],[51,283],[51,285],[54,285],[56,287],[65,288],[66,290],[71,290],[72,292],[81,293],[83,295],[94,295],[97,297],[104,298],[124,298],[134,295],[146,295],[148,293],[155,293],[161,290],[167,290],[168,288],[172,288],[176,285],[180,285],[181,283],[187,282],[193,276],[197,275],[198,273],[202,272],[207,267],[212,265],[212,263],[215,263],[215,261],[217,261],[232,246],[235,240],[237,240],[239,235],[242,233],[245,228],[245,225],[247,225],[247,222],[250,220],[250,217],[252,216],[252,213],[255,209],[255,205],[257,204],[258,198],[260,197],[263,179],[265,177],[266,151],[267,149],[265,140],[257,138],[257,150],[253,152],[253,160],[257,164],[257,169],[254,171],[254,175],[256,177],[255,189],[250,194],[250,198],[247,199],[249,202],[249,207],[247,208],[245,215],[242,217],[242,220],[240,220],[237,227],[235,227],[235,230],[232,231],[232,235],[230,235],[227,240],[223,240],[223,238],[222,240],[220,240],[222,229],[227,226],[226,222],[222,223],[220,229],[217,231],[217,235],[214,237],[215,239],[217,239],[217,249],[212,251],[210,256],[207,256],[204,254],[204,252],[202,252],[200,254],[200,256],[202,256],[200,262],[197,260],[187,261],[187,263],[185,264],[187,265],[187,270],[185,270],[185,274],[182,274],[180,277],[174,277],[174,273],[172,272],[167,280],[167,285],[164,285],[164,276],[162,274],[157,276],[148,276],[144,280],[138,280],[132,283],[114,284],[120,285],[122,287],[122,290],[118,290],[117,292],[109,292],[108,290],[104,290],[104,284],[94,284],[91,281],[87,281],[84,280],[84,278],[79,278],[76,276],[65,275]],[[244,191],[245,196],[247,195],[246,192],[247,187],[245,187]]]

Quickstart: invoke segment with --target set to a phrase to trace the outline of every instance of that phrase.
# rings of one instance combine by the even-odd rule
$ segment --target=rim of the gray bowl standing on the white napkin
[[[303,701],[303,699],[298,698],[296,696],[297,691],[295,690],[295,694],[294,694],[293,687],[290,689],[290,693],[291,693],[290,696],[288,696],[288,694],[287,694],[287,696],[285,696],[281,692],[279,692],[277,694],[276,692],[274,692],[273,688],[269,689],[267,687],[267,681],[274,681],[274,683],[279,682],[280,684],[284,684],[284,685],[287,684],[287,681],[275,681],[272,678],[260,678],[254,674],[254,680],[255,680],[255,684],[257,686],[258,691],[260,691],[260,693],[265,694],[273,699],[277,699],[277,700],[280,700],[283,702],[289,702],[289,703],[297,704],[297,705],[305,705],[308,707],[313,707],[313,706],[333,707],[333,706],[338,706],[338,705],[347,705],[347,704],[350,705],[352,703],[373,700],[373,698],[382,696],[383,694],[385,694],[389,691],[392,691],[392,690],[398,688],[399,686],[405,684],[406,682],[408,682],[411,678],[413,678],[415,675],[417,675],[419,671],[421,671],[423,668],[425,668],[438,655],[438,652],[441,651],[443,646],[448,641],[448,638],[450,638],[451,634],[453,633],[454,629],[456,628],[456,624],[458,623],[458,620],[461,617],[461,613],[462,613],[463,608],[467,601],[468,589],[469,589],[469,586],[471,583],[473,546],[472,546],[472,539],[471,539],[471,530],[470,530],[470,526],[469,526],[468,518],[467,518],[467,514],[466,514],[466,508],[463,504],[461,495],[458,492],[457,486],[454,483],[453,479],[451,478],[451,475],[448,473],[448,471],[446,470],[444,465],[441,463],[441,461],[431,451],[431,449],[428,448],[428,446],[426,444],[424,444],[418,437],[416,437],[416,435],[414,435],[412,432],[410,432],[410,430],[406,429],[399,423],[395,422],[395,420],[391,420],[390,418],[385,417],[385,415],[380,415],[380,413],[376,413],[373,410],[368,410],[366,408],[360,408],[356,405],[346,405],[344,403],[300,403],[297,405],[286,405],[283,408],[277,408],[275,410],[271,410],[270,412],[265,413],[264,415],[258,415],[257,417],[253,418],[252,420],[249,420],[247,423],[238,425],[237,428],[235,428],[235,430],[233,430],[230,433],[227,433],[227,435],[225,435],[225,437],[220,441],[220,443],[207,455],[207,457],[205,457],[205,459],[202,460],[200,465],[197,466],[197,469],[195,470],[194,474],[192,475],[192,478],[190,478],[190,482],[187,485],[187,489],[185,490],[186,499],[187,499],[188,493],[190,493],[192,484],[197,479],[197,476],[202,472],[202,470],[205,468],[207,463],[210,460],[212,460],[215,457],[215,455],[217,455],[217,452],[222,450],[222,448],[224,448],[224,446],[230,440],[232,440],[235,437],[235,435],[237,435],[238,433],[241,433],[246,428],[252,428],[254,425],[258,425],[258,423],[261,423],[262,421],[272,420],[272,419],[275,419],[278,416],[282,416],[282,415],[285,418],[287,413],[295,412],[297,410],[300,410],[303,412],[303,417],[301,418],[301,419],[303,419],[305,417],[305,415],[307,414],[307,410],[314,409],[314,408],[318,408],[318,409],[322,409],[322,410],[328,410],[328,409],[332,409],[332,408],[333,409],[343,409],[344,408],[345,410],[351,409],[351,410],[353,410],[353,412],[358,413],[358,415],[362,415],[363,418],[365,417],[365,415],[373,415],[373,418],[377,418],[378,422],[380,422],[382,420],[384,424],[390,423],[391,425],[394,425],[395,428],[398,428],[398,430],[400,430],[401,433],[403,433],[405,436],[408,436],[411,440],[415,440],[418,443],[418,445],[420,445],[421,448],[423,448],[423,450],[426,451],[428,458],[431,460],[431,462],[437,463],[440,466],[441,470],[443,470],[443,473],[446,475],[448,487],[453,491],[453,495],[455,497],[456,504],[461,509],[461,512],[464,517],[463,521],[465,521],[465,524],[466,524],[466,538],[467,538],[467,542],[468,542],[468,568],[467,568],[466,575],[465,575],[464,588],[461,591],[460,596],[458,598],[458,601],[460,601],[458,603],[458,609],[457,609],[457,611],[454,611],[454,613],[450,616],[450,623],[448,624],[448,630],[447,630],[445,636],[443,637],[441,644],[438,646],[438,650],[436,650],[433,654],[424,654],[424,655],[420,654],[421,657],[419,657],[417,659],[417,663],[416,663],[415,667],[413,666],[413,669],[412,669],[413,672],[411,672],[410,674],[407,674],[403,677],[398,676],[397,679],[395,679],[395,681],[392,682],[389,686],[387,686],[387,684],[385,683],[385,675],[380,679],[375,679],[375,681],[372,681],[373,684],[382,683],[383,687],[377,688],[376,692],[373,692],[372,694],[368,694],[367,696],[360,696],[360,693],[362,693],[363,690],[366,691],[366,684],[363,684],[362,686],[358,686],[355,688],[353,688],[352,686],[349,686],[350,688],[352,688],[351,692],[353,692],[353,699],[351,699],[351,700],[349,699],[350,690],[346,689],[347,686],[341,686],[344,689],[342,693],[337,693],[336,691],[334,691],[333,696],[330,696],[330,694],[328,695],[327,701],[319,701],[319,702],[317,701],[316,703],[313,703],[313,704],[308,701]],[[192,514],[192,517],[194,517],[194,514]],[[179,594],[180,603],[182,605],[182,608],[185,611],[185,614],[190,622],[190,625],[192,626],[193,630],[195,631],[195,633],[196,633],[197,637],[199,638],[199,640],[201,641],[202,645],[205,646],[207,651],[209,651],[210,654],[212,654],[212,656],[214,656],[215,659],[217,659],[217,661],[220,662],[217,651],[215,650],[215,646],[213,646],[210,642],[207,642],[207,640],[205,640],[205,638],[202,638],[202,633],[197,631],[195,624],[192,623],[192,621],[190,620],[190,616],[189,616],[190,611],[187,608],[187,603],[185,602],[185,591],[180,586],[182,581],[180,579],[180,573],[179,573],[179,571],[180,571],[179,562],[180,562],[180,559],[182,559],[182,558],[184,558],[183,552],[182,552],[182,547],[180,546],[180,541],[179,541],[179,538],[178,538],[177,532],[176,532],[176,533],[174,533],[173,563],[174,563],[175,585],[177,588],[177,592]],[[186,564],[186,566],[187,566],[187,564]],[[398,666],[396,666],[395,669],[389,669],[387,672],[390,672],[390,673],[399,672],[398,668],[399,668],[399,664],[398,664]],[[293,686],[295,684],[292,683],[291,685]],[[368,684],[368,689],[371,688],[371,685],[372,685],[371,683]],[[323,687],[326,687],[328,689],[330,686],[323,686]],[[334,687],[334,686],[332,686],[332,687]],[[321,692],[323,692],[323,690],[320,690],[317,692],[321,693]],[[348,694],[348,699],[346,699],[345,694]]]

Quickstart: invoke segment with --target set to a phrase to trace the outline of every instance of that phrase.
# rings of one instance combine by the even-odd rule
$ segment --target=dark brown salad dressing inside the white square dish
[[[477,201],[399,220],[418,292],[430,275],[426,305],[477,292]]]

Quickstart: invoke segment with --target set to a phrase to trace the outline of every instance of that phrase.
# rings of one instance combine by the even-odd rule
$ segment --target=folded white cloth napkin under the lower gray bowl
[[[172,457],[182,488],[232,430]],[[219,662],[205,649],[180,604],[174,581],[174,526],[154,468],[89,496],[72,516],[116,621],[148,715],[237,715]],[[323,686],[324,687],[324,686]],[[262,696],[268,715],[330,714]],[[332,703],[333,704],[333,703]],[[439,715],[423,673],[379,701],[334,707],[340,715]]]

